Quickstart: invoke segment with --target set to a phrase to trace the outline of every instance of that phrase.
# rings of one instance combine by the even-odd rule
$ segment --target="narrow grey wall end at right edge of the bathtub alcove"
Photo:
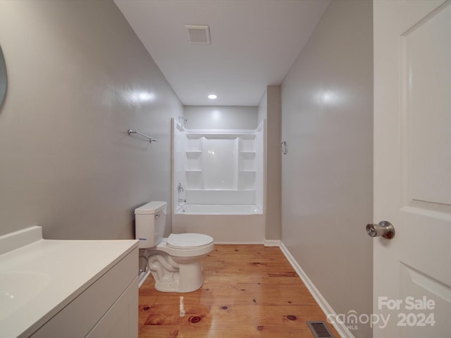
[[[264,160],[265,187],[265,238],[279,240],[281,228],[281,132],[280,86],[268,86],[261,98],[257,119],[266,118],[266,156]]]

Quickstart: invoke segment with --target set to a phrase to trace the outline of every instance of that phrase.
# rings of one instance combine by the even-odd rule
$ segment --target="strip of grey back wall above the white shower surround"
[[[257,128],[257,107],[254,106],[185,106],[187,129]]]

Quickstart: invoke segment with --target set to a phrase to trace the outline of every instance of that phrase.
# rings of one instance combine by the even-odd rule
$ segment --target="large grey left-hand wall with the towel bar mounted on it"
[[[134,237],[134,209],[171,200],[170,120],[183,106],[121,12],[112,1],[0,1],[0,44],[0,234]]]

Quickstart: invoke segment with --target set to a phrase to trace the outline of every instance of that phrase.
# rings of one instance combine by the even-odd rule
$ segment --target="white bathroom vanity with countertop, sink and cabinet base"
[[[0,337],[137,338],[136,240],[0,237]]]

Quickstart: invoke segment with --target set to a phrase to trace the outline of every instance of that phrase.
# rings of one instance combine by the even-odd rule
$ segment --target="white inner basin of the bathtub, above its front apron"
[[[185,215],[258,215],[261,210],[255,205],[185,204],[176,212]]]

